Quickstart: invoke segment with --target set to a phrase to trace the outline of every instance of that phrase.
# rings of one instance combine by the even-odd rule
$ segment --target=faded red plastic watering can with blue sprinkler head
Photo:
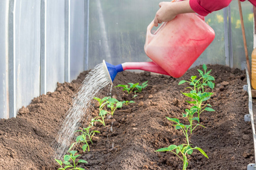
[[[110,84],[118,72],[144,70],[153,73],[182,76],[213,41],[215,33],[197,14],[179,14],[164,22],[151,33],[152,21],[147,27],[144,52],[152,62],[125,62],[112,65],[103,60],[106,78]]]

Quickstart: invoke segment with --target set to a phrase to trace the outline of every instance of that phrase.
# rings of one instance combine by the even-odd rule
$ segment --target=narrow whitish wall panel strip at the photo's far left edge
[[[7,86],[8,86],[8,72],[7,72],[7,16],[8,16],[8,2],[7,0],[0,1],[0,118],[9,118],[8,104],[7,104]]]

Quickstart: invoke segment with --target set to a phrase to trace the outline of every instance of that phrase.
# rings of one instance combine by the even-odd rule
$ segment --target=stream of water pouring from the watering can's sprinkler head
[[[88,113],[93,97],[108,84],[109,82],[105,78],[102,63],[88,73],[84,82],[82,82],[79,92],[73,99],[73,106],[65,116],[63,125],[56,137],[56,142],[53,143],[57,159],[67,154],[69,146],[74,142],[74,132],[79,128],[82,118]]]

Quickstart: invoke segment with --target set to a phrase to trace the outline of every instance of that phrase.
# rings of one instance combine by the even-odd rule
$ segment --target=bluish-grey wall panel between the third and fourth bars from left
[[[71,1],[70,5],[70,78],[76,79],[84,71],[85,1]]]

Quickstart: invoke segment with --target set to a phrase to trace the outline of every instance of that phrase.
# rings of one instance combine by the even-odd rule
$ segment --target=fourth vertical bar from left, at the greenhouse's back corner
[[[89,5],[90,0],[86,0],[84,3],[84,70],[89,69]]]

